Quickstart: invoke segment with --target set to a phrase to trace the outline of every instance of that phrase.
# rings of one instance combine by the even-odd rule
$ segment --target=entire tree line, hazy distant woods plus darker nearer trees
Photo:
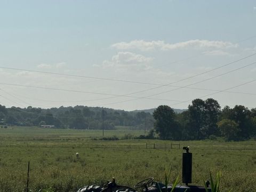
[[[148,135],[141,136],[150,139],[204,140],[222,137],[238,141],[256,138],[256,108],[249,110],[236,105],[221,109],[218,101],[212,98],[195,99],[182,113],[175,113],[171,107],[161,105],[153,114],[86,106],[42,109],[0,105],[0,120],[9,125],[54,125],[64,129],[102,129],[104,126],[106,130],[114,130],[116,126],[130,126],[135,130],[150,130]]]

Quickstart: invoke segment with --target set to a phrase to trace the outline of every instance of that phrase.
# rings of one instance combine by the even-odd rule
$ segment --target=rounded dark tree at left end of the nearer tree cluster
[[[175,113],[171,107],[158,106],[153,117],[155,118],[154,129],[160,139],[179,139],[178,123],[175,121]]]

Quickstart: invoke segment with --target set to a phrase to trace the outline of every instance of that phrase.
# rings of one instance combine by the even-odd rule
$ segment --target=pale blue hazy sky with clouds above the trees
[[[0,105],[256,107],[255,1],[0,1]]]

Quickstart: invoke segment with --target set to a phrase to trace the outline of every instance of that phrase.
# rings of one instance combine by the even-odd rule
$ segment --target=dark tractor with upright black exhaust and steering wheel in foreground
[[[189,146],[183,147],[183,150],[186,150],[182,153],[182,182],[185,185],[175,186],[175,192],[205,192],[205,187],[203,186],[191,186],[188,183],[192,181],[192,153],[189,152]],[[210,182],[206,181],[206,186],[209,187]],[[111,181],[108,181],[107,185],[104,187],[100,186],[85,186],[81,189],[78,189],[77,192],[135,192],[137,189],[141,189],[142,192],[170,192],[173,188],[172,185],[166,187],[164,183],[154,181],[154,178],[148,178],[142,180],[135,184],[134,188],[127,186],[119,186],[115,182],[115,178]],[[211,189],[208,188],[208,191],[211,192]]]

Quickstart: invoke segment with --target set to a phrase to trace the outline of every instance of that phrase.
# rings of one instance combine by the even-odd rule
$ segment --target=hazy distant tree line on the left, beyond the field
[[[103,118],[102,118],[103,117]],[[133,129],[152,129],[154,118],[143,111],[133,112],[101,107],[59,107],[59,108],[6,108],[0,105],[0,120],[9,125],[41,126],[54,125],[64,129],[114,130],[116,126],[130,126]],[[103,122],[103,123],[102,123]]]

